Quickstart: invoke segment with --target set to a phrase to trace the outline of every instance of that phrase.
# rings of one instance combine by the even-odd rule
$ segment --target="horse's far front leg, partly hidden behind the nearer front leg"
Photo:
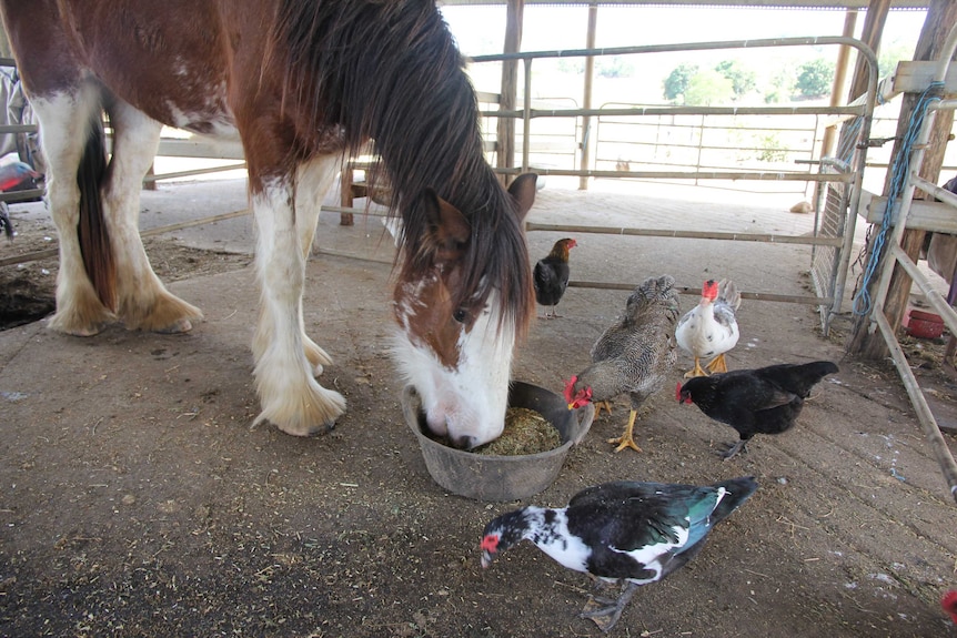
[[[325,155],[302,164],[296,173],[295,230],[299,233],[303,262],[309,261],[312,243],[315,240],[315,226],[319,222],[322,201],[332,188],[341,164],[341,156]],[[299,325],[302,330],[302,346],[305,351],[305,358],[312,365],[313,374],[318,376],[322,374],[323,366],[332,364],[332,358],[305,334],[301,301],[299,304]]]

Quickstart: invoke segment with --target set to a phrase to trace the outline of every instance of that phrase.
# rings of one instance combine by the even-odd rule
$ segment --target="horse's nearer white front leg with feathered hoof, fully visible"
[[[305,231],[293,210],[292,189],[285,181],[272,180],[259,192],[254,190],[251,201],[261,287],[253,355],[262,412],[254,424],[270,421],[288,434],[306,436],[331,428],[345,412],[345,399],[316,383],[306,356],[301,308]],[[319,351],[328,362],[328,355]]]

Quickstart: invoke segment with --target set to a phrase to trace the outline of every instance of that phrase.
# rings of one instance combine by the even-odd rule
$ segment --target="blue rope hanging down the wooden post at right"
[[[874,237],[874,245],[870,250],[870,256],[867,260],[867,267],[862,277],[860,288],[854,297],[854,314],[864,316],[870,312],[873,301],[870,298],[870,281],[877,272],[877,265],[884,254],[887,232],[890,230],[890,221],[894,219],[894,204],[904,192],[904,186],[910,175],[910,154],[914,150],[914,143],[924,128],[924,120],[927,115],[927,107],[931,102],[940,100],[940,90],[944,88],[943,82],[931,82],[917,100],[914,111],[910,113],[910,120],[907,122],[907,131],[904,133],[904,139],[900,142],[900,150],[894,158],[890,173],[890,191],[887,194],[887,205],[884,207],[884,216],[880,222],[880,231]],[[900,220],[903,223],[904,220]]]

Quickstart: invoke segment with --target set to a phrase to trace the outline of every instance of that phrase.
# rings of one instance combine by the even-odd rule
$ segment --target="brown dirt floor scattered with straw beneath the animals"
[[[189,192],[161,190],[170,201]],[[144,194],[144,221],[172,205]],[[712,227],[794,232],[809,223],[786,210],[548,188],[533,215],[598,225],[631,215],[654,226],[656,214],[702,209]],[[14,220],[21,235],[0,257],[54,245],[39,215],[14,210]],[[234,224],[248,231],[250,222]],[[722,462],[734,431],[666,388],[639,416],[644,453],[615,454],[605,442],[627,418],[622,397],[545,492],[522,503],[470,500],[431,479],[402,422],[402,382],[389,359],[391,245],[380,227],[360,219],[343,229],[323,214],[325,252],[309,264],[305,324],[335,359],[320,381],[349,401],[324,436],[250,429],[254,270],[242,251],[195,247],[192,237],[209,227],[148,242],[170,288],[205,313],[191,333],[113,326],[74,338],[42,320],[0,332],[0,635],[598,636],[577,617],[588,579],[535,547],[520,545],[482,570],[485,523],[526,503],[564,505],[606,480],[741,475],[757,478],[755,496],[688,566],[642,588],[614,635],[957,635],[939,608],[957,586],[957,506],[893,367],[844,356],[846,322],[824,338],[808,306],[743,303],[732,367],[817,358],[840,366],[795,428],[758,436],[746,455]],[[533,255],[558,236],[532,233]],[[577,240],[575,280],[636,284],[669,272],[692,286],[708,276],[780,294],[808,286],[808,260],[788,246]],[[49,296],[56,260],[0,267],[0,276],[3,295],[19,277],[27,296]],[[536,321],[521,345],[515,378],[561,389],[626,296],[570,288],[563,317]],[[694,303],[682,297],[684,310]],[[939,366],[943,343],[906,347],[935,415],[953,426],[957,395]],[[675,382],[689,363],[683,355]]]

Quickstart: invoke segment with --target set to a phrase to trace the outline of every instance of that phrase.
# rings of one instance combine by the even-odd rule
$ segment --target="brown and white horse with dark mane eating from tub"
[[[399,367],[436,433],[462,447],[501,433],[534,312],[523,219],[535,178],[506,192],[485,162],[475,94],[433,0],[2,0],[2,14],[60,234],[52,328],[191,330],[202,314],[143,251],[141,181],[161,123],[239,138],[261,287],[256,422],[332,427],[345,401],[313,376],[330,357],[304,333],[304,265],[343,153],[371,138],[403,229]]]

